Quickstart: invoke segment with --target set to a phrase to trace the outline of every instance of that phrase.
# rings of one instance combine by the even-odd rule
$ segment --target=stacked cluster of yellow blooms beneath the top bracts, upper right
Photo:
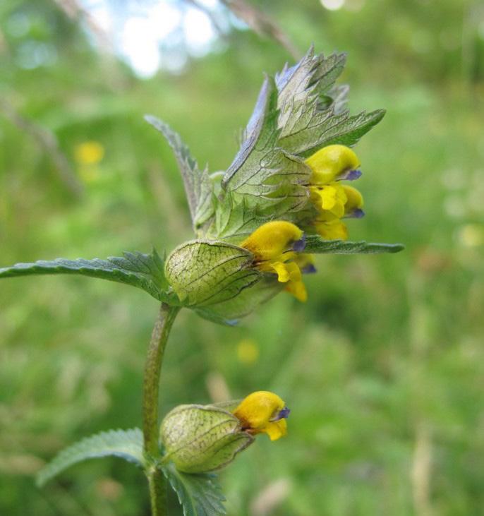
[[[361,176],[360,161],[355,152],[344,145],[328,145],[305,160],[312,170],[310,200],[319,215],[313,222],[315,231],[325,239],[348,238],[343,217],[363,217],[363,196],[352,186],[340,181],[353,181]]]

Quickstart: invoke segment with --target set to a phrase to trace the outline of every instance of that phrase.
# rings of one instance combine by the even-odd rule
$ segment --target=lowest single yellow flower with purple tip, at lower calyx
[[[279,396],[260,390],[242,400],[234,410],[234,416],[241,421],[242,429],[246,432],[267,433],[270,440],[277,440],[286,435],[289,412]]]

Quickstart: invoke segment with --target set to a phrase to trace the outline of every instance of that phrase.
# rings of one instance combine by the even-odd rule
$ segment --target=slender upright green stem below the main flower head
[[[159,377],[162,371],[164,349],[167,345],[171,326],[180,308],[162,303],[153,328],[150,347],[146,358],[145,380],[143,383],[143,442],[145,456],[149,464],[159,459]],[[146,471],[150,485],[152,516],[167,515],[167,483],[154,465]]]

